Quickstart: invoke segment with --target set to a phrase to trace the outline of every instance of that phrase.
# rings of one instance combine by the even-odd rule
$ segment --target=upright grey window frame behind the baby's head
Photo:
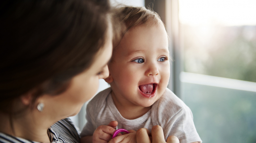
[[[180,74],[183,71],[183,47],[180,42],[181,29],[178,2],[178,0],[145,0],[145,6],[158,13],[165,25],[169,36],[168,49],[172,58],[168,88],[182,100]]]

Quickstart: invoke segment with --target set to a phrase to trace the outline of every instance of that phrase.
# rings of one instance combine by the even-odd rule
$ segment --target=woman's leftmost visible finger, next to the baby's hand
[[[141,128],[136,132],[137,143],[151,143],[150,140],[150,131],[146,128]]]

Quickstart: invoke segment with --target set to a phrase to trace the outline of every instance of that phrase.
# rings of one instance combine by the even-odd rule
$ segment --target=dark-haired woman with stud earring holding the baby
[[[1,0],[0,5],[0,142],[79,143],[67,117],[77,114],[96,93],[98,80],[109,75],[108,1]],[[140,135],[141,143],[150,142]]]

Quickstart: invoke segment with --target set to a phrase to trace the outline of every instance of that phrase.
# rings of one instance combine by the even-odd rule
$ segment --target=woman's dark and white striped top
[[[74,124],[69,118],[62,119],[48,129],[52,143],[79,143],[80,137]],[[40,143],[0,133],[0,143]]]

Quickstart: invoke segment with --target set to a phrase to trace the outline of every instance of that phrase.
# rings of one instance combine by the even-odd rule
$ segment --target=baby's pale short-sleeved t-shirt
[[[82,137],[93,135],[98,126],[117,121],[117,129],[137,131],[140,128],[147,128],[151,131],[153,126],[159,125],[163,128],[165,140],[168,136],[175,135],[180,143],[202,143],[195,129],[190,108],[170,89],[166,88],[163,95],[146,114],[133,120],[122,117],[115,107],[111,91],[111,88],[103,90],[88,103],[86,108],[87,123],[82,130]]]

